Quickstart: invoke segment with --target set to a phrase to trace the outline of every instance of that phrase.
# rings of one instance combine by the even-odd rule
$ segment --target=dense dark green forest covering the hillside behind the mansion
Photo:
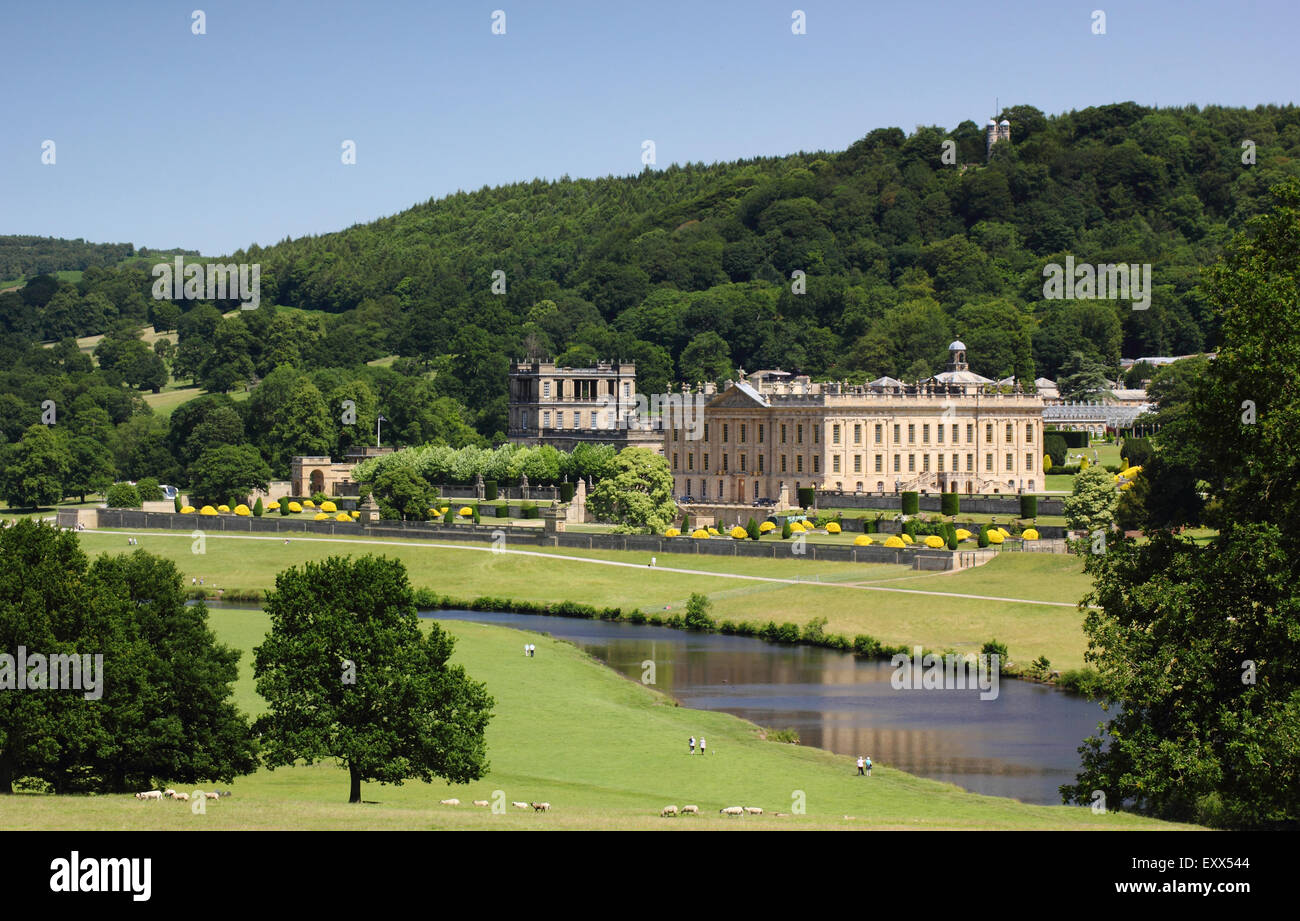
[[[972,369],[1022,380],[1097,380],[1121,356],[1214,349],[1201,271],[1270,186],[1300,176],[1300,108],[1002,117],[1011,140],[987,157],[974,121],[888,127],[842,152],[534,180],[250,246],[217,261],[261,265],[252,311],[156,299],[152,260],[105,252],[77,284],[40,274],[0,294],[3,434],[22,438],[56,399],[65,431],[90,432],[117,476],[183,481],[186,427],[282,475],[287,451],[358,437],[337,423],[342,398],[372,425],[382,411],[398,444],[499,441],[512,356],[632,359],[638,386],[660,392],[741,367],[913,379],[940,369],[954,337]],[[1044,267],[1066,256],[1150,264],[1149,308],[1044,299]],[[178,345],[146,345],[146,324]],[[91,363],[69,337],[98,333]],[[387,355],[391,367],[364,364]],[[211,395],[151,419],[140,394],[169,377]],[[207,429],[204,412],[220,416]]]

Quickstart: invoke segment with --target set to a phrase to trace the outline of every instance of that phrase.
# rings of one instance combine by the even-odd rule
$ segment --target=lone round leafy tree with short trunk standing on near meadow
[[[335,758],[350,803],[367,781],[477,781],[493,699],[462,666],[452,637],[420,622],[406,567],[330,557],[276,578],[270,631],[254,652],[268,768]]]

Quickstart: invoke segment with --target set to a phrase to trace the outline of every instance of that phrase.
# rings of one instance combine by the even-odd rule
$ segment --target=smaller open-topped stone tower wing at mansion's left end
[[[645,402],[644,399],[640,402]],[[521,445],[580,444],[659,451],[660,433],[629,425],[637,418],[634,362],[599,362],[594,368],[559,368],[554,362],[511,362],[507,438]]]

